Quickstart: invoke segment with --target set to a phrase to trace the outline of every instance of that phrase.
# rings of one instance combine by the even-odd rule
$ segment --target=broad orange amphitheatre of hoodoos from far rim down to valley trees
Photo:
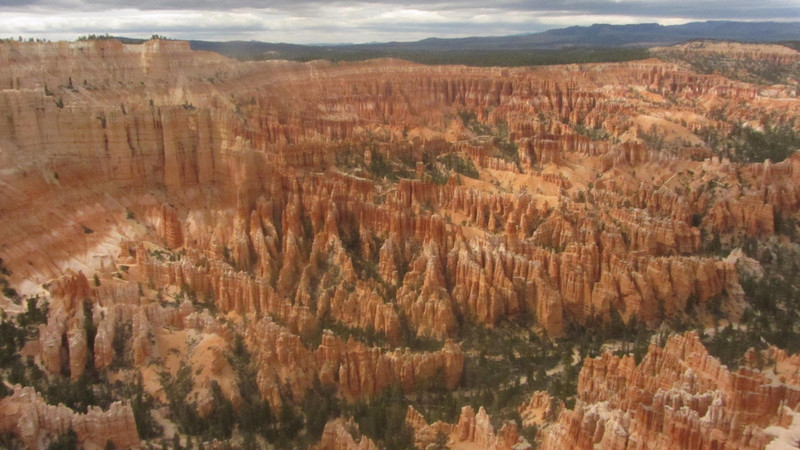
[[[655,103],[638,92],[751,98],[742,83],[655,60],[533,72],[400,61],[240,65],[164,41],[4,43],[0,58],[13,66],[0,74],[10,80],[0,133],[14,149],[3,157],[19,168],[8,180],[19,192],[3,198],[7,261],[30,253],[10,238],[24,235],[64,249],[66,259],[33,258],[58,272],[62,263],[50,261],[68,260],[76,235],[81,246],[106,246],[112,229],[140,222],[170,255],[135,252],[147,280],[186,285],[222,311],[270,315],[301,334],[333,320],[398,344],[404,326],[443,339],[463,320],[525,317],[558,336],[612,309],[654,324],[659,303],[670,315],[690,295],[739,295],[725,267],[682,259],[701,250],[700,228],[767,236],[775,208],[791,214],[800,205],[790,183],[797,158],[740,170],[681,161],[626,135],[639,126],[631,117],[654,117]],[[76,61],[36,72],[53,58]],[[197,73],[178,86],[186,70]],[[124,99],[111,100],[109,79],[123,84]],[[200,79],[213,80],[214,92]],[[279,107],[285,92],[292,101]],[[766,108],[738,107],[742,118]],[[479,129],[450,121],[466,111]],[[681,129],[709,126],[702,114],[681,119],[692,122]],[[501,129],[519,165],[498,156]],[[459,185],[454,172],[443,185],[424,181],[423,160],[448,153],[480,167],[480,182]],[[395,171],[393,159],[419,162],[420,179],[382,185],[369,171],[376,155]],[[41,161],[58,177],[24,176]],[[96,190],[82,182],[90,177]],[[497,177],[510,191],[488,183]],[[24,214],[43,195],[65,216],[64,205],[94,206],[80,223],[46,233]],[[97,220],[110,209],[116,223]],[[705,269],[687,280],[697,264]]]

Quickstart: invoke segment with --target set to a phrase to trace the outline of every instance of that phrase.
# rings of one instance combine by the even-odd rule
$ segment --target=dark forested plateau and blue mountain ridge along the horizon
[[[541,33],[497,37],[428,38],[416,42],[299,45],[258,41],[190,41],[239,60],[311,61],[401,58],[426,64],[521,66],[617,62],[648,57],[647,48],[694,39],[740,42],[800,42],[800,22],[692,22],[684,25],[595,24]],[[123,42],[142,42],[121,38]]]

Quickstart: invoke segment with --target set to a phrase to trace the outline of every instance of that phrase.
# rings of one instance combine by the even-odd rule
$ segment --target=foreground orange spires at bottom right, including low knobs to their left
[[[730,371],[694,332],[655,343],[639,364],[606,352],[587,358],[574,408],[536,391],[519,406],[522,425],[539,427],[538,448],[793,448],[800,370],[797,355],[774,347],[744,355]],[[499,432],[481,408],[453,424],[428,424],[413,407],[406,424],[417,448],[531,448],[511,421]]]

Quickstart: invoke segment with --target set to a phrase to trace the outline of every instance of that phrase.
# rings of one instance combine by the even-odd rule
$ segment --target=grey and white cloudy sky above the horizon
[[[359,43],[705,20],[800,21],[800,0],[0,0],[0,37],[50,40],[109,33]]]

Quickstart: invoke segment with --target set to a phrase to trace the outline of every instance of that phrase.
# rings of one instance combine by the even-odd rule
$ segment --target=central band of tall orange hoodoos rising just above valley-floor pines
[[[720,294],[734,300],[741,295],[730,267],[679,256],[700,245],[699,230],[680,221],[619,209],[578,220],[574,214],[541,211],[530,198],[486,197],[421,183],[401,183],[398,196],[387,201],[445,202],[469,212],[469,220],[481,227],[505,223],[494,225],[506,230],[498,247],[467,237],[464,227],[437,216],[334,203],[331,192],[341,184],[314,184],[302,195],[289,195],[285,207],[259,200],[246,222],[195,215],[185,226],[192,234],[239,231],[227,241],[220,232],[217,243],[192,238],[200,248],[169,260],[138,251],[137,262],[147,279],[185,286],[197,297],[213,298],[223,311],[268,314],[301,334],[330,318],[382,333],[393,343],[399,342],[401,313],[416,334],[439,339],[454,336],[459,319],[493,325],[525,315],[559,336],[565,316],[584,323],[616,309],[625,311],[625,320],[655,323],[661,319],[659,304],[671,315],[682,311],[689,297],[705,302]],[[547,214],[526,240],[525,230]],[[603,220],[610,224],[601,225]],[[280,244],[276,225],[285,229]],[[227,252],[228,258],[210,261],[208,252],[220,257]]]

